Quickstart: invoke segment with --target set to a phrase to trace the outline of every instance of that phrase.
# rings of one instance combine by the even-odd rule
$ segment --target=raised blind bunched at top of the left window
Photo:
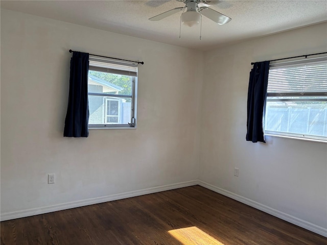
[[[137,63],[116,61],[101,57],[89,57],[89,69],[119,75],[137,77]]]

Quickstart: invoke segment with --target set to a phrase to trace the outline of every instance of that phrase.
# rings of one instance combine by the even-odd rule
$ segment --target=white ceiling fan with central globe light
[[[226,15],[223,15],[217,12],[216,10],[207,7],[212,4],[217,4],[219,1],[206,1],[206,0],[177,0],[177,1],[183,2],[185,6],[168,10],[167,12],[149,18],[149,20],[158,21],[170,15],[178,13],[180,11],[183,11],[181,15],[181,23],[189,27],[193,27],[195,24],[198,24],[201,21],[202,15],[215,21],[217,24],[225,24],[231,20],[231,18],[227,17]]]

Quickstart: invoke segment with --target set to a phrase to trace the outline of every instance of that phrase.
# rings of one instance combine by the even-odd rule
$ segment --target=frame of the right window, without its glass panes
[[[271,67],[285,67],[287,65],[299,65],[299,66],[305,66],[307,64],[310,64],[312,62],[324,62],[327,64],[327,57],[317,57],[317,58],[311,58],[311,59],[304,59],[304,60],[295,60],[295,61],[287,61],[287,62],[280,62],[280,63],[272,63],[269,66],[269,71],[271,70]],[[325,83],[322,83],[322,86],[324,86]],[[280,132],[280,131],[270,131],[266,130],[266,122],[269,120],[267,118],[267,107],[268,103],[270,101],[273,102],[327,102],[327,91],[320,91],[320,92],[303,92],[303,91],[296,91],[294,92],[269,92],[269,79],[268,79],[268,92],[267,92],[267,99],[264,106],[264,118],[263,118],[263,128],[264,128],[264,134],[266,136],[275,136],[275,137],[282,137],[282,138],[292,138],[292,139],[300,139],[300,140],[307,140],[307,141],[315,141],[315,142],[324,142],[327,143],[327,136],[316,136],[316,135],[310,135],[310,134],[299,134],[299,133],[289,133],[289,132]],[[290,98],[293,97],[293,98]],[[295,97],[295,98],[294,98]],[[311,97],[311,98],[310,98]],[[313,97],[313,98],[312,98]],[[324,109],[327,110],[327,109]],[[326,112],[325,112],[326,113]],[[324,122],[327,124],[327,118],[324,117]],[[308,125],[309,127],[309,125]],[[325,126],[327,130],[327,125]]]

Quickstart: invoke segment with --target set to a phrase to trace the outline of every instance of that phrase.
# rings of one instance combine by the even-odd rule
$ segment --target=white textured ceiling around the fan
[[[219,1],[210,8],[232,20],[219,26],[203,17],[202,40],[200,25],[182,25],[179,38],[180,13],[160,21],[148,20],[183,6],[177,1],[1,1],[4,9],[198,50],[327,20],[326,0]]]

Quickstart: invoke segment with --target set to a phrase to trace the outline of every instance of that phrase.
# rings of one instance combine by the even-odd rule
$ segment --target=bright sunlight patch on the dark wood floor
[[[168,232],[184,245],[224,245],[195,226]]]

